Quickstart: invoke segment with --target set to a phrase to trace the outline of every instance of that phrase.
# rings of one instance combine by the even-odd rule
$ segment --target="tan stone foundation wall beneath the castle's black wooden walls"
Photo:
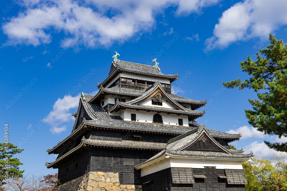
[[[61,181],[61,180],[60,180]],[[119,173],[89,172],[84,176],[61,184],[57,191],[142,191],[141,185],[122,185]]]

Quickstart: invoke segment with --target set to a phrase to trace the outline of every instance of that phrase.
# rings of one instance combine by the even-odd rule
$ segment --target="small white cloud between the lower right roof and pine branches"
[[[274,149],[270,149],[269,147],[267,147],[267,145],[262,142],[262,143],[258,143],[257,141],[247,145],[244,147],[244,153],[250,153],[251,151],[253,152],[254,158],[271,158],[273,153],[279,153],[277,151],[275,151]]]

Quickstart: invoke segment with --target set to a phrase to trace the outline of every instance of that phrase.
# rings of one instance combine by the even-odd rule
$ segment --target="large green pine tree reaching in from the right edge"
[[[258,93],[259,100],[249,99],[253,110],[245,110],[248,123],[265,134],[287,137],[287,44],[282,40],[276,40],[269,35],[270,45],[257,52],[257,60],[240,62],[243,72],[251,77],[241,81],[240,78],[230,82],[222,82],[227,88],[238,87],[265,91]],[[287,142],[265,144],[277,151],[287,152]]]

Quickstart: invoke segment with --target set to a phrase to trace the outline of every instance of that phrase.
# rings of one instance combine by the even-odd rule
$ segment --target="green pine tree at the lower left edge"
[[[17,158],[12,158],[13,155],[21,153],[24,149],[17,149],[17,146],[14,146],[12,143],[8,143],[8,149],[5,148],[6,143],[0,143],[0,178],[1,183],[5,179],[5,172],[8,171],[9,178],[23,177],[24,170],[19,170],[19,165],[22,165]],[[6,165],[8,162],[8,165]]]

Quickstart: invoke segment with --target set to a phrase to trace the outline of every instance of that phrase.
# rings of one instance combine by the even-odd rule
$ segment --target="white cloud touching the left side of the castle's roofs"
[[[49,115],[44,118],[44,122],[52,126],[52,133],[61,133],[65,131],[67,127],[64,125],[58,127],[60,124],[75,120],[70,113],[71,109],[75,109],[79,105],[80,94],[72,97],[71,95],[65,95],[62,99],[59,98],[53,105],[53,110],[50,111]]]

